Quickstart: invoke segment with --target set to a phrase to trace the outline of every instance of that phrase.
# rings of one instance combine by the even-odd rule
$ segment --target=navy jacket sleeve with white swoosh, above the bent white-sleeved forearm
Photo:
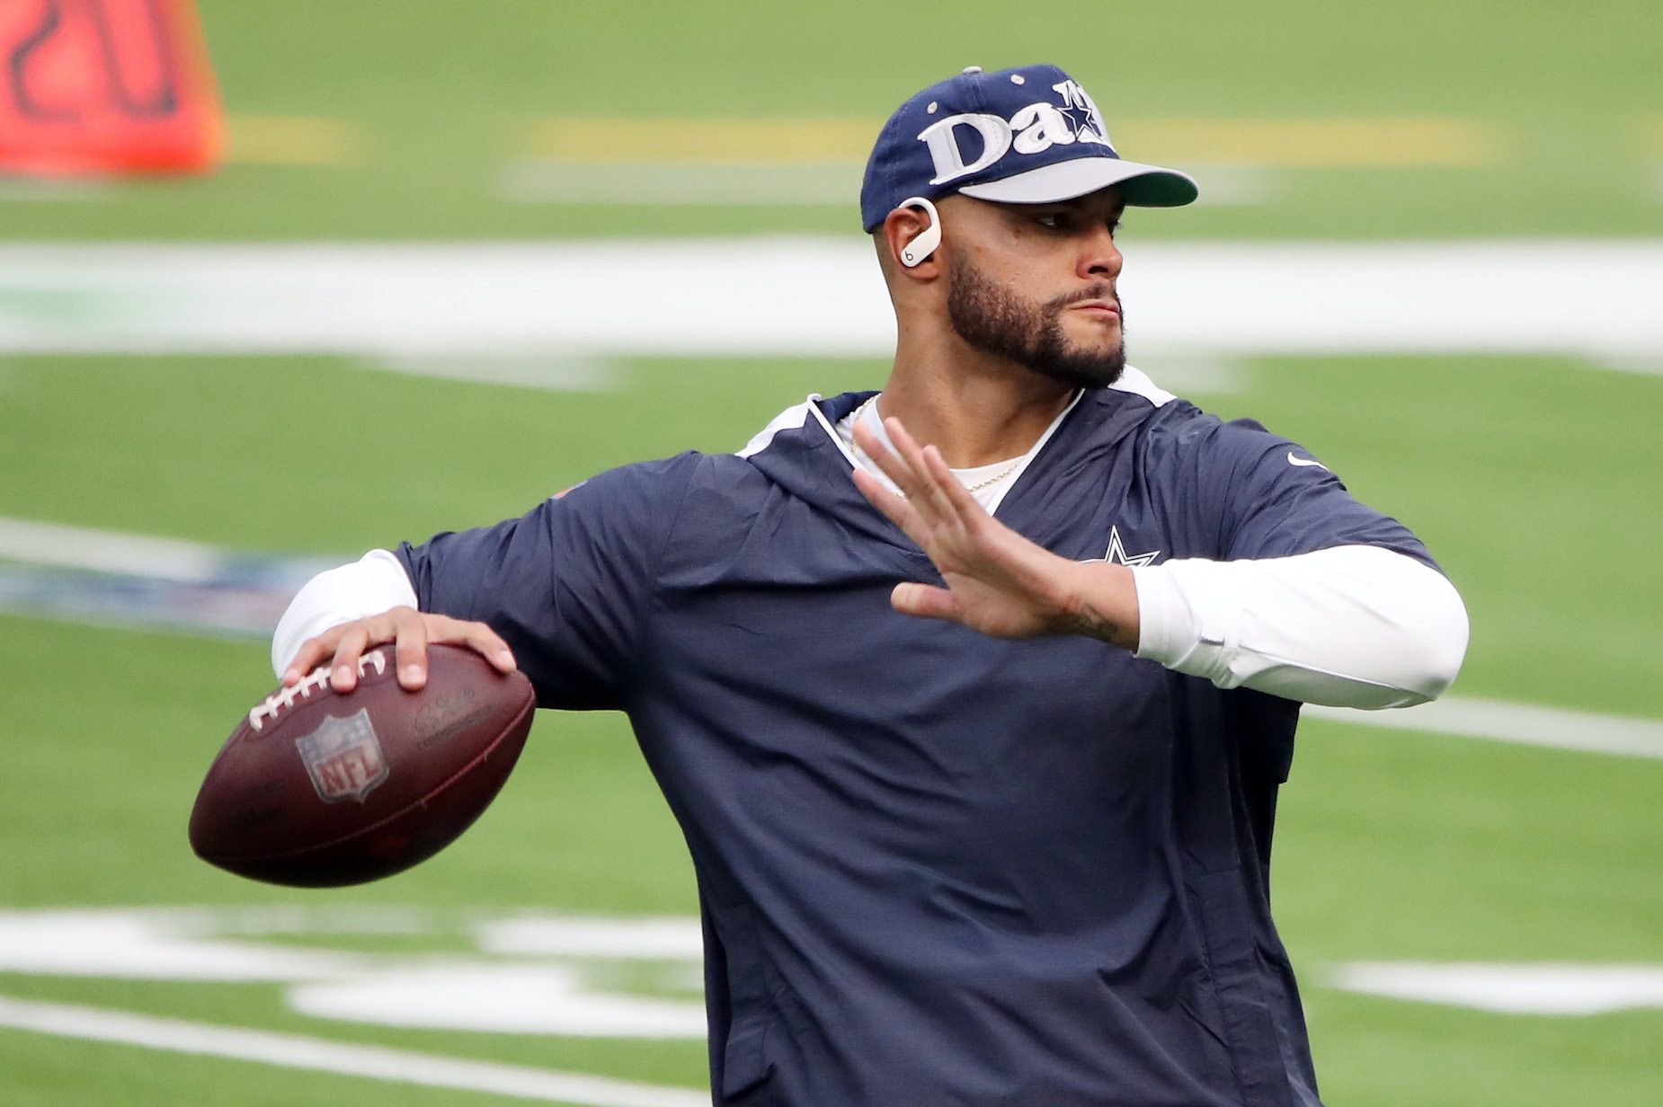
[[[1197,439],[1201,499],[1206,515],[1222,522],[1224,560],[1379,545],[1437,568],[1420,539],[1360,504],[1304,447],[1251,419],[1212,422]]]

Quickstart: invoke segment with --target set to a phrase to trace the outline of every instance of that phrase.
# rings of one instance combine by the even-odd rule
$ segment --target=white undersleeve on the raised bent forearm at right
[[[1467,610],[1455,587],[1380,547],[1181,558],[1133,568],[1133,580],[1137,657],[1221,688],[1332,706],[1410,706],[1442,695],[1467,653]]]

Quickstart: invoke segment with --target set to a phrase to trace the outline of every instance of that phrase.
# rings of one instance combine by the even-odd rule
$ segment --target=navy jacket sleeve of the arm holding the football
[[[397,550],[424,612],[509,643],[552,708],[619,708],[695,454],[624,465],[496,527]]]

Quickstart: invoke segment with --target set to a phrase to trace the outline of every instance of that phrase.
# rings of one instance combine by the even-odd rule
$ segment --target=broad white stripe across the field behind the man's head
[[[1128,241],[1121,291],[1134,361],[1663,354],[1658,239]],[[0,352],[885,357],[893,347],[895,317],[860,236],[0,246]]]

